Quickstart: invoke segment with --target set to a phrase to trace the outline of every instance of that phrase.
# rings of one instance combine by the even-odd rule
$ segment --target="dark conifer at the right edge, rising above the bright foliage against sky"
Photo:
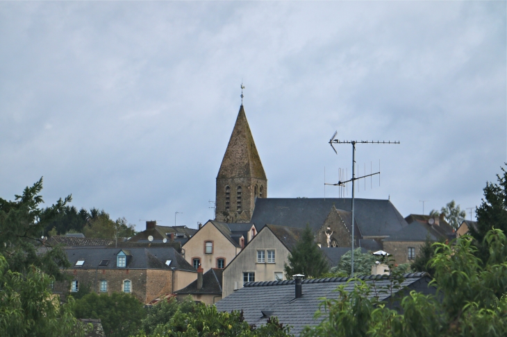
[[[486,234],[493,227],[507,232],[507,171],[503,167],[501,171],[503,175],[497,175],[497,184],[486,182],[484,198],[476,209],[477,226],[469,228],[477,254],[484,262],[489,258],[488,246],[484,244]]]

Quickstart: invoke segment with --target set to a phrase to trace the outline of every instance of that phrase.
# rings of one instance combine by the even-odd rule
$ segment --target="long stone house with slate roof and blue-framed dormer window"
[[[131,293],[143,303],[173,293],[197,278],[197,270],[174,248],[66,248],[71,282],[58,282],[56,293],[90,287],[96,293]]]

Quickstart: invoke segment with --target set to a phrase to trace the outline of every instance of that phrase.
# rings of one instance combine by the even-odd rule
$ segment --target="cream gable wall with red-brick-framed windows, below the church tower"
[[[205,253],[206,241],[213,241],[212,254]],[[192,266],[192,260],[195,257],[201,259],[201,268],[203,268],[204,273],[210,270],[210,268],[217,268],[218,258],[225,259],[225,265],[227,266],[241,250],[241,248],[237,248],[233,245],[233,243],[209,221],[183,245],[183,249],[185,250],[185,260]],[[181,288],[183,288],[183,286]]]

